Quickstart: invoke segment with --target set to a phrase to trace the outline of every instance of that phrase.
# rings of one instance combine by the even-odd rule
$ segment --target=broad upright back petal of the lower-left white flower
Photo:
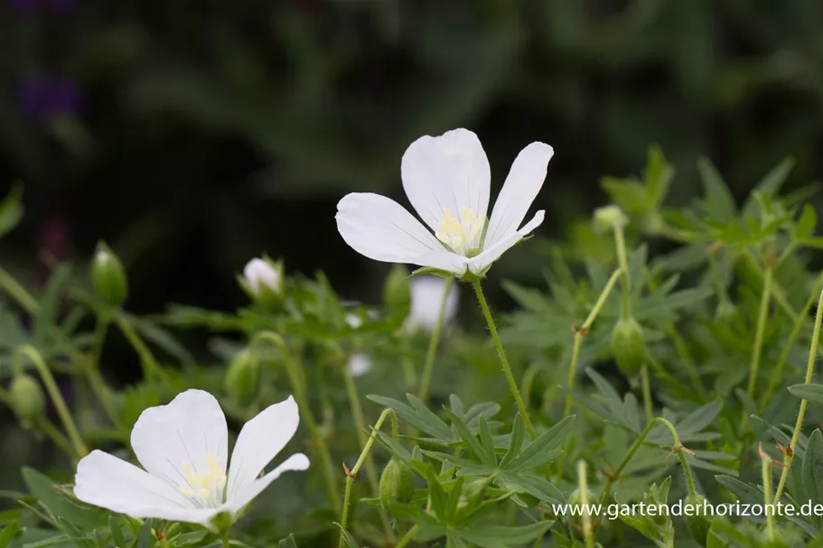
[[[225,471],[229,456],[226,416],[213,395],[187,390],[170,404],[140,414],[131,435],[137,460],[154,476],[173,486],[187,486],[183,467],[208,470],[207,457]]]

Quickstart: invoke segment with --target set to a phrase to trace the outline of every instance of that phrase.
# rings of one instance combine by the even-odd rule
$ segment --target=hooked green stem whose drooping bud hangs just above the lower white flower
[[[289,378],[289,383],[292,385],[292,390],[295,392],[295,400],[297,402],[300,413],[303,416],[306,428],[309,431],[309,436],[312,439],[313,446],[320,453],[320,460],[322,463],[323,476],[325,478],[326,495],[329,497],[329,502],[332,505],[334,513],[340,512],[340,494],[337,490],[337,482],[334,478],[334,469],[332,467],[332,456],[329,454],[329,448],[326,446],[326,441],[321,435],[320,429],[317,427],[317,421],[314,419],[312,408],[309,405],[308,398],[305,395],[305,383],[301,375],[300,368],[292,358],[291,353],[285,340],[274,331],[260,331],[250,342],[250,347],[255,348],[260,342],[267,340],[273,343],[280,349],[283,355],[283,362],[285,366],[285,374]]]

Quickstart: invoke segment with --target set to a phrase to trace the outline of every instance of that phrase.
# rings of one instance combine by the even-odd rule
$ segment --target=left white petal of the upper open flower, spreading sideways
[[[353,192],[337,204],[337,229],[352,249],[386,263],[444,251],[420,221],[394,200],[370,192]],[[416,264],[416,263],[415,263]]]

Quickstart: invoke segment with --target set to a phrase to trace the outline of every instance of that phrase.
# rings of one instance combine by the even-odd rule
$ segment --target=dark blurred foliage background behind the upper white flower
[[[787,155],[806,183],[823,172],[821,23],[805,0],[4,0],[0,181],[23,181],[27,207],[4,261],[38,283],[39,251],[85,259],[102,237],[133,311],[225,309],[265,250],[374,299],[386,265],[345,246],[335,204],[405,200],[407,144],[455,126],[498,188],[521,147],[555,147],[543,236],[652,143],[678,166],[675,203],[701,154],[738,197]],[[494,275],[533,281],[540,249]]]

